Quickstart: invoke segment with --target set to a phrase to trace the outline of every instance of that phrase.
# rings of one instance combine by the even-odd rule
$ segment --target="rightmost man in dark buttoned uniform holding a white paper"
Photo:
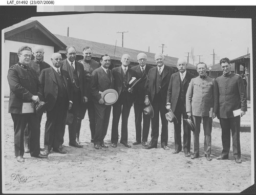
[[[240,148],[240,119],[247,111],[247,96],[242,77],[230,71],[228,58],[220,60],[223,74],[216,79],[219,97],[217,117],[221,124],[222,154],[217,160],[228,159],[230,149],[230,129],[232,133],[233,157],[236,163],[242,163]],[[233,112],[235,111],[235,112]]]

